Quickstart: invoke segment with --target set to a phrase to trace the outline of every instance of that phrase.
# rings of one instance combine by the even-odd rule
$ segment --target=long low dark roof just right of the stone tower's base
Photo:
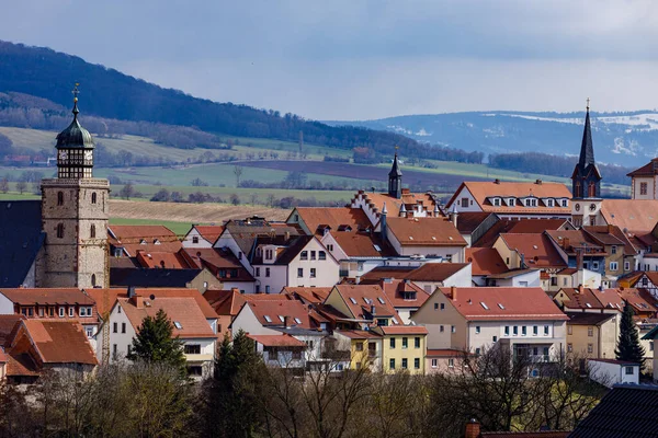
[[[110,286],[185,287],[201,269],[110,268]]]

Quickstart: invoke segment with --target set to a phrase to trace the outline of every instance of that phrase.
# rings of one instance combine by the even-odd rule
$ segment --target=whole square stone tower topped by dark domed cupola
[[[37,287],[109,287],[107,217],[110,182],[93,177],[94,143],[78,120],[57,136],[57,177],[42,181],[45,254]]]

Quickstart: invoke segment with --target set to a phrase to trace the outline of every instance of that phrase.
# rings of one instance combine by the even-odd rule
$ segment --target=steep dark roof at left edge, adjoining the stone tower
[[[22,285],[45,238],[41,200],[0,201],[0,286]]]

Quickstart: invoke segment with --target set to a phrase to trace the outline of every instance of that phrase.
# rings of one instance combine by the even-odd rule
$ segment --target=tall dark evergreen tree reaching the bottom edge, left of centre
[[[224,337],[217,351],[213,377],[205,388],[202,435],[206,437],[251,437],[257,435],[264,396],[260,379],[266,370],[254,343],[245,332],[232,343]]]

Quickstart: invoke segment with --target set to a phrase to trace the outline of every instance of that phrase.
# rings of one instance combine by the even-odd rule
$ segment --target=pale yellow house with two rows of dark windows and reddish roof
[[[423,326],[381,326],[373,330],[383,336],[382,369],[386,373],[408,371],[426,373],[428,330]]]

